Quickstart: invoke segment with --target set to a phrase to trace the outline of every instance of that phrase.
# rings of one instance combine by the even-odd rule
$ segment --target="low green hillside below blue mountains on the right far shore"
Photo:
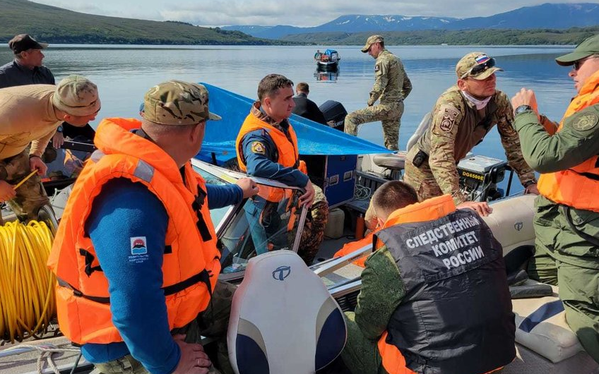
[[[578,44],[599,33],[599,26],[567,30],[422,30],[382,32],[387,45],[533,45]],[[283,40],[302,44],[360,45],[373,32],[319,32],[287,35]]]

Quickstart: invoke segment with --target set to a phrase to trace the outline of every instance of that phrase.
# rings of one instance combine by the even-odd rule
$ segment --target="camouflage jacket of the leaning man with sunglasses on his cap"
[[[535,174],[522,156],[514,111],[504,92],[496,90],[485,109],[478,110],[454,85],[446,90],[432,109],[432,123],[420,137],[417,147],[429,155],[428,163],[443,193],[453,196],[456,205],[466,199],[460,192],[456,164],[480,143],[493,126],[502,140],[509,165],[522,184],[535,181]]]

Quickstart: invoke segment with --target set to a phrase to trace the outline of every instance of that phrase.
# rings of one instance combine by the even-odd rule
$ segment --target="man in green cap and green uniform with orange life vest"
[[[555,61],[572,66],[578,92],[560,123],[539,114],[532,90],[511,99],[523,155],[541,173],[528,274],[559,285],[568,324],[599,363],[599,35]]]

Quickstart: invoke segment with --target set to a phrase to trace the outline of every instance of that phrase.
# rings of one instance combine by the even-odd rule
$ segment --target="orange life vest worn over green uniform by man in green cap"
[[[557,131],[562,129],[569,116],[595,104],[599,104],[599,72],[588,78],[579,95],[570,102]],[[599,212],[598,161],[595,155],[575,167],[541,174],[537,188],[541,195],[555,203]]]

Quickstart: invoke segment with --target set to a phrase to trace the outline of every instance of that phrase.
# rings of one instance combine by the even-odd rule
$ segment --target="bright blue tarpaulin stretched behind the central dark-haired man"
[[[235,157],[235,139],[254,100],[223,88],[201,84],[208,89],[210,111],[223,119],[208,121],[202,149],[196,157],[207,162],[215,158],[218,164],[221,164]],[[297,134],[301,155],[364,155],[391,152],[368,140],[342,133],[295,114],[291,116],[290,121]]]

